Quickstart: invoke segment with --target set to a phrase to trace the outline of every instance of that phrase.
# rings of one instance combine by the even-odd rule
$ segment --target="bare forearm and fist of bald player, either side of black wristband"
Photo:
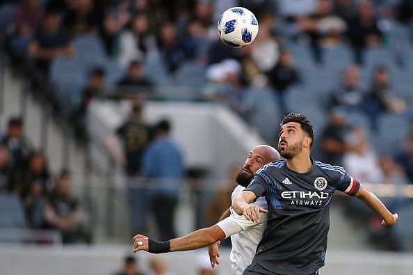
[[[200,249],[209,246],[220,239],[225,239],[225,233],[219,226],[211,226],[210,228],[203,228],[193,233],[189,233],[184,237],[178,237],[170,240],[170,251],[185,251]],[[138,242],[143,242],[143,245],[138,245]],[[149,251],[148,237],[144,235],[136,235],[133,237],[133,245],[135,249],[133,252],[140,250]]]

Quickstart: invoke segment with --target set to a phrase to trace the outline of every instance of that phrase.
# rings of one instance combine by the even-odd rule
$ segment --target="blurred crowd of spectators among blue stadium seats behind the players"
[[[314,149],[321,161],[341,165],[363,182],[413,182],[412,1],[0,3],[10,18],[2,40],[13,70],[72,125],[76,139],[88,140],[93,100],[139,95],[226,104],[271,145],[282,116],[302,111],[323,129]],[[217,36],[216,22],[232,6],[252,10],[259,21],[257,39],[243,49],[231,49]],[[52,205],[51,194],[61,192],[58,183],[70,175],[53,180],[44,155],[29,155],[24,142],[19,146],[17,155],[10,147],[0,150],[2,159],[13,155],[11,168],[27,167],[31,173],[24,175],[38,179],[27,179],[19,196],[33,205],[38,194],[47,194]],[[40,226],[35,210],[28,211],[31,225]],[[373,237],[385,239],[375,225],[371,221]]]

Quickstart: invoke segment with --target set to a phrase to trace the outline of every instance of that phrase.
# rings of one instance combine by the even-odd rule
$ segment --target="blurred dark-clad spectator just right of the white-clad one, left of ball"
[[[174,74],[184,61],[186,51],[177,39],[177,28],[172,22],[163,22],[159,31],[159,51],[170,74]]]

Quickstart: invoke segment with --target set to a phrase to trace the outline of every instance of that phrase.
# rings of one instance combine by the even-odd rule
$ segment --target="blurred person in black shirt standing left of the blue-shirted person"
[[[114,134],[108,136],[108,149],[120,166],[125,168],[128,176],[140,175],[142,155],[152,139],[152,132],[143,121],[143,102],[132,101],[129,118]],[[118,138],[122,141],[123,153],[118,149]]]

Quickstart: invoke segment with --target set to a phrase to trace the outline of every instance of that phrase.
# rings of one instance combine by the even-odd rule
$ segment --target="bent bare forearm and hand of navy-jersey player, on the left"
[[[259,221],[259,213],[268,212],[266,209],[250,203],[254,202],[257,196],[252,191],[242,191],[232,203],[232,208],[238,215],[244,215],[248,221]]]

